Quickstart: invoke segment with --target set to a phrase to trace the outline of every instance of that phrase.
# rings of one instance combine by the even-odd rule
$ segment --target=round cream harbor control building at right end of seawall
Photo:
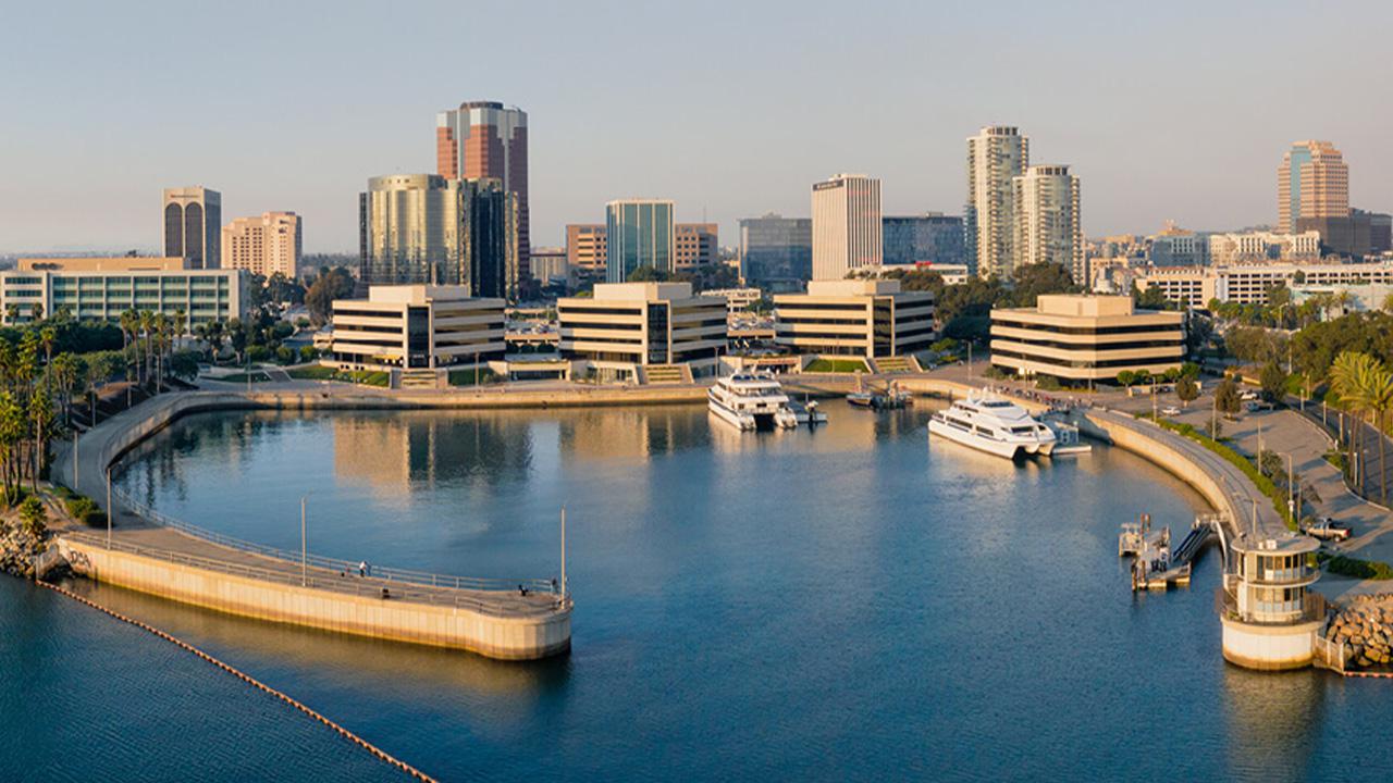
[[[1321,577],[1311,567],[1319,546],[1297,534],[1245,534],[1231,543],[1233,568],[1219,613],[1226,660],[1266,672],[1311,665],[1325,623],[1325,596],[1307,589]]]

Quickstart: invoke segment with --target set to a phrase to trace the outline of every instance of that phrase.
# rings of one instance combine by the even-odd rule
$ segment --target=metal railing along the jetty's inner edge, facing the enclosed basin
[[[233,538],[220,532],[215,532],[198,525],[191,525],[182,520],[169,517],[156,511],[155,509],[138,503],[125,492],[113,489],[111,495],[114,499],[131,513],[142,517],[159,527],[177,529],[180,532],[188,534],[194,538],[206,541],[209,543],[216,543],[219,546],[226,546],[228,549],[235,549],[238,552],[245,552],[248,555],[258,555],[260,557],[270,557],[274,560],[281,560],[293,563],[295,566],[301,564],[301,560],[306,566],[315,568],[325,568],[329,571],[337,571],[343,574],[351,574],[358,571],[358,563],[350,560],[340,560],[337,557],[325,557],[323,555],[305,555],[304,559],[298,552],[287,552],[284,549],[276,549],[274,546],[266,546],[262,543],[255,543],[251,541],[244,541],[240,538]],[[368,575],[378,580],[384,580],[390,582],[403,582],[421,587],[432,588],[453,588],[453,589],[478,589],[478,591],[503,591],[511,592],[518,588],[527,588],[529,592],[539,594],[559,594],[559,587],[554,580],[490,580],[478,577],[457,577],[449,574],[433,574],[430,571],[414,571],[408,568],[391,568],[383,566],[369,566]],[[298,577],[297,577],[298,581]]]

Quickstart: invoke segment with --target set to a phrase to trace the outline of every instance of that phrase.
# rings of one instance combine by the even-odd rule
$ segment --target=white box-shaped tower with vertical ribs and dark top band
[[[880,180],[837,174],[812,185],[812,279],[880,266]]]

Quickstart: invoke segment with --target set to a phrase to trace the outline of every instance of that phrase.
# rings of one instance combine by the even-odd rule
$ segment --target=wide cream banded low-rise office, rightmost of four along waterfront
[[[1185,357],[1184,313],[1134,309],[1130,295],[1045,294],[992,309],[992,366],[1063,380],[1163,373]]]

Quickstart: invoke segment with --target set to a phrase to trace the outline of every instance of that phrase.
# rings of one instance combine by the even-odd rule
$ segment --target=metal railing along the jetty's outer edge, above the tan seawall
[[[137,555],[141,557],[149,557],[152,560],[160,560],[164,563],[173,563],[176,566],[188,566],[192,568],[202,568],[208,571],[216,571],[220,574],[230,574],[234,577],[244,577],[249,580],[281,584],[288,587],[305,587],[330,592],[338,592],[344,595],[354,595],[358,598],[390,598],[391,600],[403,600],[408,603],[426,603],[430,606],[444,606],[453,609],[469,609],[479,612],[482,614],[490,614],[495,617],[518,617],[518,616],[545,616],[563,606],[570,606],[570,599],[563,599],[556,596],[554,603],[538,605],[538,603],[514,603],[501,600],[499,598],[481,598],[476,594],[469,594],[464,591],[453,589],[415,589],[403,591],[397,588],[397,592],[390,592],[391,588],[384,588],[383,582],[376,578],[358,580],[325,575],[322,571],[311,571],[301,580],[301,575],[295,571],[281,571],[276,568],[262,568],[258,566],[247,566],[244,563],[235,563],[231,560],[219,560],[215,557],[202,557],[198,555],[187,555],[184,552],[173,552],[169,549],[155,549],[149,546],[139,546],[134,543],[127,543],[124,541],[107,541],[104,535],[88,532],[88,531],[67,531],[63,534],[64,538],[81,542],[93,549],[104,549],[110,552],[124,552],[127,555]],[[389,592],[384,595],[383,589]],[[514,588],[515,589],[515,588]],[[515,592],[513,595],[517,595]]]

